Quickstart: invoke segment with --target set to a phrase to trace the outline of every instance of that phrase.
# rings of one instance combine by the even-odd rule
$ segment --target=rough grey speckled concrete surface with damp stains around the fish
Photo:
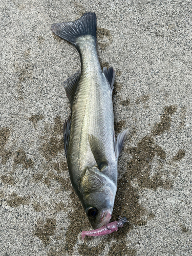
[[[116,71],[116,135],[130,130],[112,217],[129,223],[81,241],[62,137],[80,58],[50,28],[87,11]],[[191,255],[191,1],[5,0],[0,16],[0,255]]]

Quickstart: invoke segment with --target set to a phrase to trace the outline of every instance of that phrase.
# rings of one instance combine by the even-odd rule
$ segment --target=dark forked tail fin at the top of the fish
[[[83,35],[92,35],[96,38],[97,17],[94,12],[84,13],[75,22],[53,24],[51,30],[61,38],[76,46],[76,39]]]

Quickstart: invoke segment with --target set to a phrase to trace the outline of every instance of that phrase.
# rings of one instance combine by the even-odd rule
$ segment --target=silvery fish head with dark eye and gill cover
[[[82,205],[94,229],[110,222],[117,186],[97,167],[88,168],[81,180]]]

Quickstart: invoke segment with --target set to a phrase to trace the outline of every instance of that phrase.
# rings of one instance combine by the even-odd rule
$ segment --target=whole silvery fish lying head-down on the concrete
[[[97,18],[84,13],[75,22],[52,25],[52,32],[79,52],[81,70],[64,82],[71,115],[64,146],[73,188],[94,229],[108,224],[117,191],[117,162],[128,130],[115,139],[112,67],[101,70],[96,48]]]

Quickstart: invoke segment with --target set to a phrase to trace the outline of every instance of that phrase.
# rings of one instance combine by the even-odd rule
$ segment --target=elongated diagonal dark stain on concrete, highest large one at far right
[[[177,111],[176,105],[165,106],[164,113],[161,116],[161,121],[157,123],[152,130],[152,134],[154,136],[167,132],[170,129],[170,123],[172,121],[171,116],[176,111]]]

